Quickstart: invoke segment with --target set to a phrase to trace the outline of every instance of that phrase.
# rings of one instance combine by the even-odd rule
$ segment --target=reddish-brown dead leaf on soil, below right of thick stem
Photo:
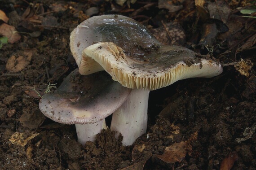
[[[171,146],[165,148],[162,155],[156,155],[159,159],[166,163],[181,162],[186,156],[186,143],[181,141],[180,143],[174,143]]]

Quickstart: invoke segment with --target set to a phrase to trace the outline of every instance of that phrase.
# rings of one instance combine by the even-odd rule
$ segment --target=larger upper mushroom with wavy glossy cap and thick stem
[[[82,55],[73,52],[79,73],[106,70],[112,79],[132,89],[125,103],[113,113],[110,127],[124,136],[124,145],[131,145],[146,132],[150,90],[181,79],[210,78],[222,72],[221,64],[187,48],[162,45],[145,26],[120,15],[89,18],[71,35],[85,39],[97,35],[95,44],[79,48]],[[71,49],[81,45],[82,39],[72,39]]]

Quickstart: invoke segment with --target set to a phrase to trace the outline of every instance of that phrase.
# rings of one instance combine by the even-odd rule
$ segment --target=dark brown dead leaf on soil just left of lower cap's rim
[[[23,113],[19,118],[21,125],[30,130],[38,128],[44,122],[44,114],[39,109],[33,113]]]

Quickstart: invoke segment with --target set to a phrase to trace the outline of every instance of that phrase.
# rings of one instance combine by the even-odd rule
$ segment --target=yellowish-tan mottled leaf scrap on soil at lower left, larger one
[[[15,132],[9,139],[9,142],[24,147],[31,139],[35,138],[37,135],[39,135],[39,133],[31,132],[30,136],[26,138],[25,133]]]

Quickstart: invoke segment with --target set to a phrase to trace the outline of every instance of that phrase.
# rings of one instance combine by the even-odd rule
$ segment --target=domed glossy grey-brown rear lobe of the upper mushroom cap
[[[132,18],[122,15],[101,15],[90,17],[81,22],[70,35],[70,48],[80,74],[92,74],[103,70],[91,58],[83,58],[82,51],[98,42],[113,42],[126,52],[132,52],[132,46],[150,47],[160,44],[157,39]],[[134,51],[132,53],[135,53]]]

